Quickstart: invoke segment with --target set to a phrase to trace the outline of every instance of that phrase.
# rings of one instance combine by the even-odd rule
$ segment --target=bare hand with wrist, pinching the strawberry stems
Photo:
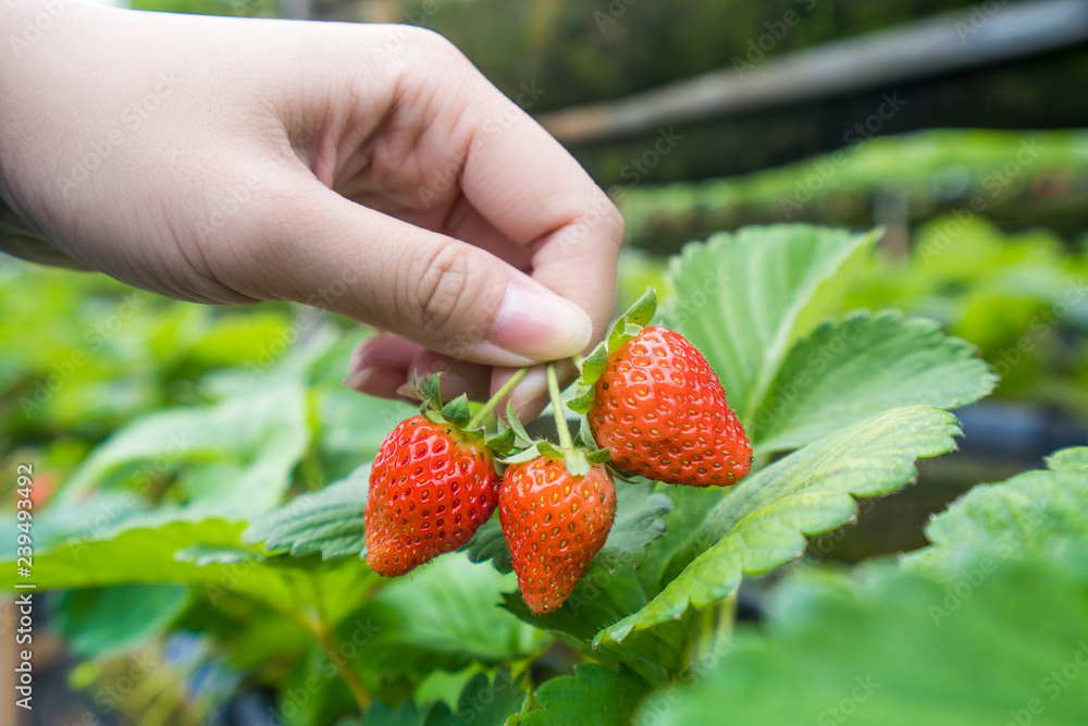
[[[441,370],[445,395],[483,398],[584,352],[622,238],[578,163],[436,34],[59,0],[0,0],[0,200],[21,257],[385,331],[345,381],[379,396]],[[512,395],[523,418],[545,398],[542,367]]]

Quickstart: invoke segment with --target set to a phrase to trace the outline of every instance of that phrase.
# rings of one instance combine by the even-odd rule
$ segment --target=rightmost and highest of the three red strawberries
[[[645,328],[608,355],[588,416],[597,445],[627,475],[715,487],[737,483],[752,465],[718,377],[665,328]]]

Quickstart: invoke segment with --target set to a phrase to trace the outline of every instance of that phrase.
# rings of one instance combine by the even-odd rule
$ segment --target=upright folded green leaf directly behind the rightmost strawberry
[[[747,430],[793,343],[831,311],[845,270],[879,232],[745,227],[690,244],[669,263],[666,320],[718,374]]]

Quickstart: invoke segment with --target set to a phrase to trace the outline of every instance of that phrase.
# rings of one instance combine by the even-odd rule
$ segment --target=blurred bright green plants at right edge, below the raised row
[[[997,395],[1088,422],[1088,237],[1072,248],[1044,230],[1005,234],[980,217],[937,217],[907,259],[874,258],[850,306],[900,307],[981,349]]]

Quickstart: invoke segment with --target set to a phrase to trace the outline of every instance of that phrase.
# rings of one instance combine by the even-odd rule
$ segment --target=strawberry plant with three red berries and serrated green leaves
[[[841,309],[878,236],[689,245],[577,385],[549,367],[544,439],[502,395],[339,390],[358,337],[330,328],[217,371],[55,494],[38,587],[92,662],[189,633],[286,724],[974,724],[1031,699],[1075,723],[1084,691],[1040,681],[1088,626],[1084,450],[976,490],[902,562],[790,565],[953,451],[949,409],[996,384],[931,321]],[[735,626],[753,579],[766,628]]]

